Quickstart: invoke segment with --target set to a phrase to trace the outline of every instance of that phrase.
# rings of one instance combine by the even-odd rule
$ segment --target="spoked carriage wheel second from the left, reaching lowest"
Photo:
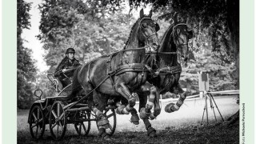
[[[66,132],[66,112],[63,107],[63,102],[56,101],[50,109],[50,134],[55,140],[63,138]]]

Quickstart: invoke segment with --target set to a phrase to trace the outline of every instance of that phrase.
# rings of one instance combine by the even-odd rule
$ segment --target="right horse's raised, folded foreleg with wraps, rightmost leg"
[[[178,98],[178,101],[174,103],[169,103],[165,107],[165,111],[167,113],[172,113],[174,111],[179,110],[179,108],[182,106],[184,100],[186,99],[186,92],[184,92],[180,85],[174,88],[174,94],[179,94],[180,97]]]

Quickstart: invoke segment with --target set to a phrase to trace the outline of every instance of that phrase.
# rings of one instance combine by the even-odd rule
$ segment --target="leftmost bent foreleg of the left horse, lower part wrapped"
[[[127,88],[127,86],[125,86],[124,83],[120,83],[119,85],[116,85],[116,90],[118,90],[119,94],[122,94],[122,96],[124,98],[126,98],[128,100],[128,105],[124,106],[118,106],[118,110],[117,113],[118,114],[131,114],[131,118],[130,121],[133,122],[135,125],[138,125],[138,114],[137,114],[137,110],[134,109],[134,106],[136,104],[136,98],[130,94],[130,90]]]

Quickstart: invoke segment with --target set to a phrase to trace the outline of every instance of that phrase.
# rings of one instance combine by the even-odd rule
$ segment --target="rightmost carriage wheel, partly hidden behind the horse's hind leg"
[[[103,110],[103,114],[106,116],[106,118],[110,122],[110,125],[109,125],[110,128],[106,129],[106,133],[110,134],[110,136],[111,136],[114,134],[114,130],[117,126],[117,116],[116,116],[115,110],[114,109]],[[96,121],[96,123],[97,123],[97,127],[98,127],[98,122]]]

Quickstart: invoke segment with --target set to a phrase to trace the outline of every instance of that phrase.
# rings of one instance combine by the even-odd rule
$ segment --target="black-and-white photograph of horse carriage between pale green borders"
[[[240,143],[239,6],[17,0],[17,143]]]

